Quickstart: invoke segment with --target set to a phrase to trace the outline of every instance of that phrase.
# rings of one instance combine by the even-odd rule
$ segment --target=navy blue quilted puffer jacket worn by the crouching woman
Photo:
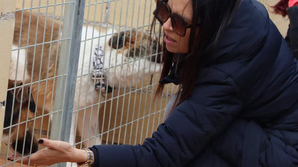
[[[298,166],[298,62],[261,3],[242,1],[212,59],[151,138],[93,146],[94,166]]]

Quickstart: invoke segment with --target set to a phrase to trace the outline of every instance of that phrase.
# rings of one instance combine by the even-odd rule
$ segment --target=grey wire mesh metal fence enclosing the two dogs
[[[148,33],[155,2],[16,2],[11,95],[4,102],[12,104],[12,112],[4,125],[8,147],[2,145],[0,167],[20,166],[7,157],[30,157],[40,137],[77,148],[139,144],[150,137],[176,91],[167,85],[160,100],[153,96],[161,69],[160,46]],[[277,0],[261,2],[268,6]],[[286,20],[271,18],[285,34]]]

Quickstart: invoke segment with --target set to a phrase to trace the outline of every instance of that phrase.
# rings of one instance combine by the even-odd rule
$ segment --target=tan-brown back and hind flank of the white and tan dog
[[[14,47],[27,49],[26,58],[26,75],[24,83],[35,82],[38,80],[48,79],[39,84],[32,84],[32,95],[36,99],[38,110],[41,111],[43,104],[45,108],[50,107],[52,98],[52,90],[54,86],[54,76],[57,76],[59,65],[59,22],[52,18],[38,15],[36,12],[30,10],[23,10],[15,12],[15,29],[13,45]],[[26,55],[20,55],[26,56]],[[56,73],[55,73],[56,71]],[[55,90],[55,86],[54,86]],[[38,95],[38,96],[37,96]],[[46,96],[46,97],[45,97]]]

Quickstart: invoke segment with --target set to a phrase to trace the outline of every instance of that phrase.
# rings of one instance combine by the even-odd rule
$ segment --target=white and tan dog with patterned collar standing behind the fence
[[[20,47],[23,47],[23,49],[20,49],[19,53],[18,50],[12,52],[10,79],[15,79],[17,71],[18,80],[22,80],[25,73],[24,83],[41,81],[32,84],[32,95],[36,102],[37,111],[43,112],[44,109],[45,113],[49,113],[54,108],[58,75],[61,43],[59,40],[61,39],[59,22],[52,19],[45,20],[44,16],[38,16],[34,12],[32,12],[30,23],[29,19],[29,11],[25,10],[23,15],[21,11],[15,13],[13,48],[18,48],[19,38],[21,38]],[[37,39],[35,39],[36,32]],[[160,62],[160,56],[148,56],[150,53],[159,53],[157,48],[161,49],[161,47],[158,45],[158,42],[153,41],[152,49],[146,49],[148,34],[137,30],[128,30],[120,32],[118,38],[118,33],[116,32],[115,30],[106,30],[105,28],[102,28],[101,32],[96,29],[93,31],[92,26],[83,26],[74,99],[74,111],[79,110],[79,112],[75,112],[72,119],[70,136],[72,144],[75,141],[75,136],[82,137],[82,140],[92,138],[92,140],[88,140],[88,145],[83,145],[85,147],[101,144],[100,138],[96,137],[101,130],[96,126],[98,107],[94,106],[93,111],[91,111],[90,107],[92,104],[97,104],[105,99],[103,96],[100,96],[100,91],[95,89],[92,77],[95,74],[93,61],[100,52],[104,54],[104,56],[99,58],[103,62],[101,68],[104,71],[104,81],[110,88],[123,88],[125,85],[130,86],[131,84],[137,85],[138,81],[136,78],[142,78],[145,74],[159,71],[160,66],[155,66],[155,62]],[[112,35],[112,33],[116,34]],[[105,36],[105,34],[108,35]],[[27,39],[27,36],[29,36],[29,39]],[[24,48],[27,45],[28,48]],[[97,68],[97,64],[94,63],[94,65]],[[26,69],[24,71],[25,66]],[[104,92],[101,94],[104,94]],[[85,119],[83,120],[83,118]],[[76,124],[77,129],[75,129]],[[75,131],[77,132],[76,134]]]

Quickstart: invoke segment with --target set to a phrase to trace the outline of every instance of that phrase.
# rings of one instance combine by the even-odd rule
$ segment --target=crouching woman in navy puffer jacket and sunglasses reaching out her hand
[[[297,166],[298,64],[266,8],[255,0],[163,0],[154,13],[164,30],[156,94],[170,82],[180,92],[164,123],[143,145],[95,145],[89,157],[40,139],[47,148],[30,165]]]

